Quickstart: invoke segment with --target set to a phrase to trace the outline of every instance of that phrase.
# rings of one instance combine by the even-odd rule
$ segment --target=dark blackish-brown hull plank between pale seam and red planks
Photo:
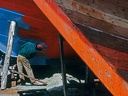
[[[116,35],[102,32],[100,30],[94,30],[87,26],[76,25],[86,36],[86,38],[98,45],[108,47],[110,49],[118,50],[120,52],[128,53],[128,40]],[[109,39],[108,39],[109,38]]]

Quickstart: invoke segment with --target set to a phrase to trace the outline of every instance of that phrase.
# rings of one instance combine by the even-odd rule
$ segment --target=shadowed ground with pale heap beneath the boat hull
[[[47,86],[31,86],[29,83],[25,86],[15,86],[6,88],[5,90],[0,91],[0,96],[64,96],[63,95],[63,86],[62,86],[62,76],[61,69],[58,66],[32,66],[36,78],[46,81]],[[71,70],[70,66],[67,68],[67,77],[70,78],[67,87],[68,96],[93,96],[92,90],[95,90],[96,96],[112,96],[111,93],[102,85],[101,82],[95,83],[95,85],[85,85],[84,83],[80,84],[78,78],[81,78],[78,71],[75,71],[75,66]],[[77,67],[78,68],[78,67]],[[70,70],[69,70],[70,69]],[[74,72],[74,73],[73,73]],[[77,72],[77,74],[76,74]],[[79,76],[78,76],[79,75]],[[71,80],[72,79],[72,80]],[[81,80],[82,81],[82,80]],[[29,91],[24,92],[24,94],[19,94],[20,91]],[[34,90],[39,90],[37,93]],[[36,94],[36,95],[35,95]]]

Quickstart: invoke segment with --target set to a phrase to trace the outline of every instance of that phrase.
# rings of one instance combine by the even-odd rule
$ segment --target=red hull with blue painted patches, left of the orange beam
[[[45,65],[46,60],[60,57],[58,31],[32,0],[27,2],[1,0],[0,2],[1,52],[6,52],[10,21],[14,20],[17,22],[17,27],[14,35],[12,57],[17,57],[20,46],[28,41],[35,44],[42,43],[47,47],[45,52],[40,53],[38,57],[31,61],[31,64],[37,64],[35,61],[38,59],[40,62],[37,65]],[[65,55],[73,57],[75,54],[73,49],[67,42],[64,45]]]

